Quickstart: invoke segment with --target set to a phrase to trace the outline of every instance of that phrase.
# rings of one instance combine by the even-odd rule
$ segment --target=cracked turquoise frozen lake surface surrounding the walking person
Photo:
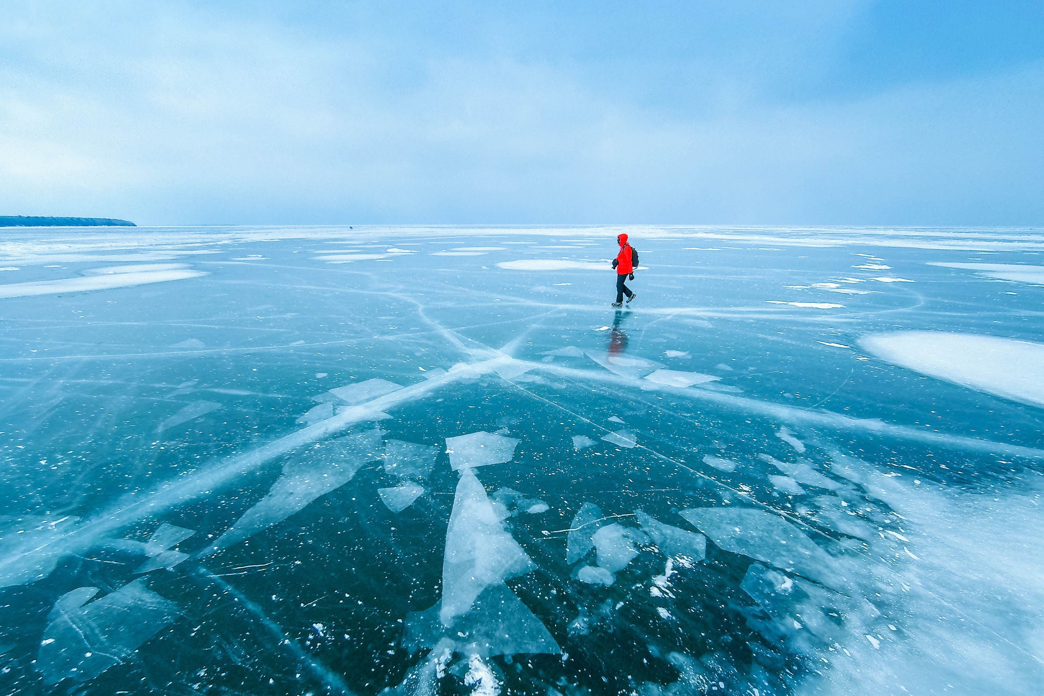
[[[1028,694],[1044,233],[0,233],[0,694]]]

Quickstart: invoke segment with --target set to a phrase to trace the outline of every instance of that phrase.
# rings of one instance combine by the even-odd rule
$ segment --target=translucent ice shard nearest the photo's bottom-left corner
[[[171,623],[181,609],[141,580],[90,604],[97,587],[78,587],[54,603],[40,646],[37,669],[44,681],[88,681],[132,658],[145,641]]]

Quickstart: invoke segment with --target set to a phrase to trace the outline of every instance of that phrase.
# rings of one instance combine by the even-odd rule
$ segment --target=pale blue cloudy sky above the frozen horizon
[[[1044,224],[1039,0],[4,0],[0,215]]]

